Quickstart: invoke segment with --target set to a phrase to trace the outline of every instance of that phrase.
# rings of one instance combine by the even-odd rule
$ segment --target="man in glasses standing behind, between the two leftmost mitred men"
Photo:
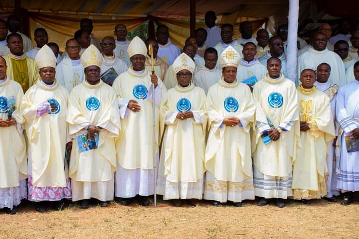
[[[80,60],[80,50],[80,43],[76,39],[67,40],[65,48],[67,54],[56,66],[56,79],[69,92],[80,84],[85,77]]]

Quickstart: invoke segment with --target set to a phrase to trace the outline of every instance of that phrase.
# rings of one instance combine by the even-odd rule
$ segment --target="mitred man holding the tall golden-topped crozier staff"
[[[122,131],[116,139],[117,171],[115,196],[121,205],[129,205],[136,195],[143,206],[149,205],[148,196],[154,194],[154,153],[158,151],[163,131],[160,108],[166,101],[167,90],[156,74],[145,67],[147,48],[135,37],[128,48],[131,67],[119,75],[115,88]],[[155,89],[154,89],[155,87]],[[155,94],[155,102],[152,102]],[[153,106],[156,111],[156,148],[153,142]],[[154,152],[155,150],[155,152]]]

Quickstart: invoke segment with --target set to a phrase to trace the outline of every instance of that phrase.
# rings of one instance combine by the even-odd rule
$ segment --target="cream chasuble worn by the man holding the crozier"
[[[142,74],[136,74],[132,67],[119,75],[114,81],[120,115],[122,131],[116,138],[116,154],[118,163],[125,169],[153,169],[153,108],[152,83],[147,69]],[[160,107],[166,101],[167,90],[159,79],[155,89],[156,105],[156,147],[158,151],[163,121],[160,121]],[[127,108],[128,102],[135,100],[141,107],[140,112],[132,112]],[[131,132],[131,133],[129,133]],[[141,149],[141,150],[140,150]]]

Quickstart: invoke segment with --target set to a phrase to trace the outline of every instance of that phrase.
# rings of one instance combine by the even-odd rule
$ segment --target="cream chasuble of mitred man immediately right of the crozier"
[[[192,84],[186,88],[177,85],[167,95],[163,110],[167,127],[159,172],[173,183],[196,182],[205,171],[205,94]],[[185,111],[191,111],[193,118],[177,119],[177,114]]]

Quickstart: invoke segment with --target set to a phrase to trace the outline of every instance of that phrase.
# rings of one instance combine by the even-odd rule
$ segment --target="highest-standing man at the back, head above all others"
[[[217,17],[214,11],[207,11],[204,15],[204,22],[207,27],[207,39],[205,41],[208,47],[214,47],[221,40],[221,28],[215,25]]]

